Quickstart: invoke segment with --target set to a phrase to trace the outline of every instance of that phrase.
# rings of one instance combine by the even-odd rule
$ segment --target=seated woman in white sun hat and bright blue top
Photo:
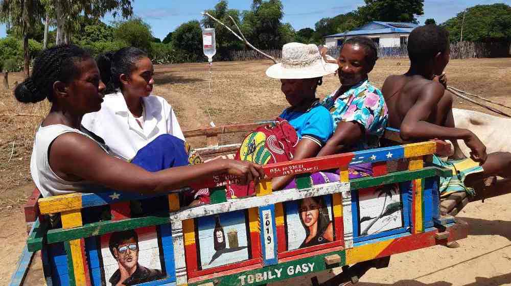
[[[321,85],[323,76],[335,73],[337,68],[337,64],[324,61],[314,44],[285,44],[282,61],[270,66],[266,75],[281,80],[281,90],[291,106],[277,118],[277,124],[250,133],[237,158],[267,164],[315,157],[334,132],[332,116],[316,98],[316,88]],[[293,176],[272,180],[273,189],[292,187],[295,187]],[[230,188],[230,195],[235,197],[252,192],[253,186]]]

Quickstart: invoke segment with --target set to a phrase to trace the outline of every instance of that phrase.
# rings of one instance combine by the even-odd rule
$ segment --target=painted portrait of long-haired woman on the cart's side
[[[305,240],[299,248],[334,241],[333,224],[321,197],[299,200],[298,213],[306,233]]]

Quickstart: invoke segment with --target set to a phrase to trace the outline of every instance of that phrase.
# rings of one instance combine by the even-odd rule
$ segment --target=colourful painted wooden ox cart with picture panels
[[[206,136],[208,147],[197,151],[208,158],[239,148],[218,146],[219,135],[259,125],[184,133]],[[343,267],[322,283],[338,285],[386,267],[392,254],[467,237],[468,225],[440,210],[439,176],[452,171],[431,163],[432,154],[445,155],[450,145],[402,144],[395,130],[385,138],[398,142],[265,165],[267,178],[252,197],[227,199],[227,176],[197,182],[194,188],[210,189],[211,203],[196,207],[183,206],[178,190],[153,198],[118,191],[35,193],[26,206],[33,222],[26,253],[40,251],[47,285],[263,285]],[[359,163],[371,163],[373,176],[350,180],[349,166]],[[339,169],[340,181],[312,185],[311,173],[332,169]],[[288,174],[296,175],[296,189],[272,190],[271,178]],[[155,202],[160,206],[153,209]],[[49,227],[50,216],[60,216],[61,226]],[[311,241],[314,229],[328,234]],[[12,284],[26,275],[26,259],[20,263]],[[133,264],[137,271],[126,274]]]

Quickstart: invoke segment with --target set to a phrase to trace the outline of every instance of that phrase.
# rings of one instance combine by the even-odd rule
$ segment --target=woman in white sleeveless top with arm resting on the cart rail
[[[102,139],[81,129],[84,114],[98,111],[102,83],[94,59],[75,45],[59,45],[41,52],[32,76],[19,84],[16,99],[52,102],[34,139],[31,173],[45,196],[70,192],[101,192],[104,187],[152,195],[190,185],[206,177],[229,173],[242,182],[259,180],[259,165],[228,159],[148,172],[110,155]]]

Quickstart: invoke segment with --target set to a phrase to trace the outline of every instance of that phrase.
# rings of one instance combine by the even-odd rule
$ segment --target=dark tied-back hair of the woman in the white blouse
[[[129,75],[136,68],[136,62],[148,57],[147,53],[136,47],[123,47],[113,53],[108,52],[98,56],[98,68],[101,80],[106,85],[105,93],[113,93],[118,88],[122,89],[119,77],[122,74]]]

